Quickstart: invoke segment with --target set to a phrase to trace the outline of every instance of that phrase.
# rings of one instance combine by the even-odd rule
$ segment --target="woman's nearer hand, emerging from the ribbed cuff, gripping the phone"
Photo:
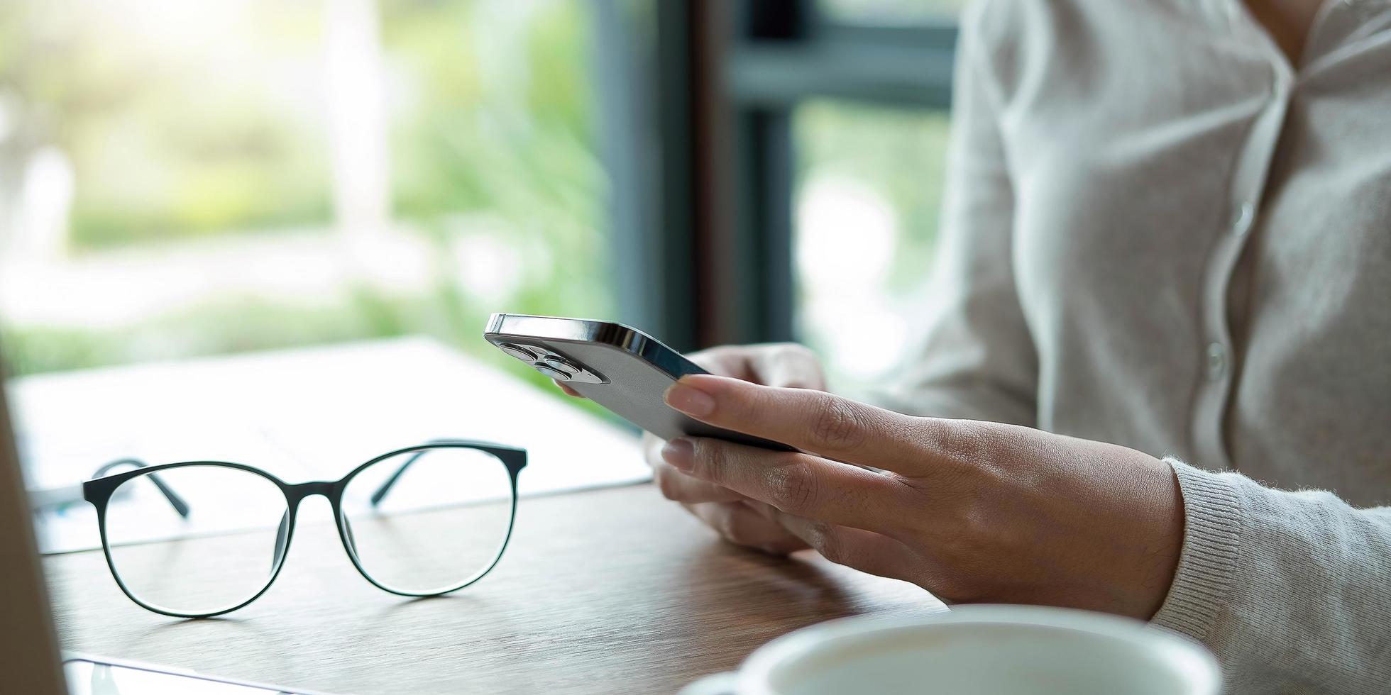
[[[832,562],[947,600],[1145,620],[1173,581],[1182,498],[1173,470],[1149,455],[715,375],[682,378],[666,402],[801,449],[682,438],[662,457],[708,489],[748,498]]]

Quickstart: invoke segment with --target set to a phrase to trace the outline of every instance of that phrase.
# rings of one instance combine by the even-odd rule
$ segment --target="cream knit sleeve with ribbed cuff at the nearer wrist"
[[[1187,521],[1153,623],[1206,644],[1228,692],[1391,692],[1391,507],[1168,463]]]

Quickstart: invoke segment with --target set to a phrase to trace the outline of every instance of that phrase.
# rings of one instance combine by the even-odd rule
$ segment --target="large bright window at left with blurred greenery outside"
[[[0,4],[11,371],[608,316],[591,10]]]

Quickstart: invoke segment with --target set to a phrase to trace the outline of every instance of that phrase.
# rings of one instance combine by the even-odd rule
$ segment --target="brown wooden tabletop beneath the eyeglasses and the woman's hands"
[[[65,649],[330,692],[673,692],[812,623],[944,609],[726,545],[651,485],[523,499],[492,574],[434,599],[367,584],[331,524],[299,528],[275,585],[223,619],[140,609],[97,550],[45,562]]]

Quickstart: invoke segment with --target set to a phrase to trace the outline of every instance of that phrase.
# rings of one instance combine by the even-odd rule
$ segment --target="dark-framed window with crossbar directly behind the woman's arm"
[[[732,271],[750,289],[726,304],[721,339],[805,342],[851,393],[906,356],[936,242],[961,4],[737,6],[719,106],[740,214],[718,247],[754,261]]]

